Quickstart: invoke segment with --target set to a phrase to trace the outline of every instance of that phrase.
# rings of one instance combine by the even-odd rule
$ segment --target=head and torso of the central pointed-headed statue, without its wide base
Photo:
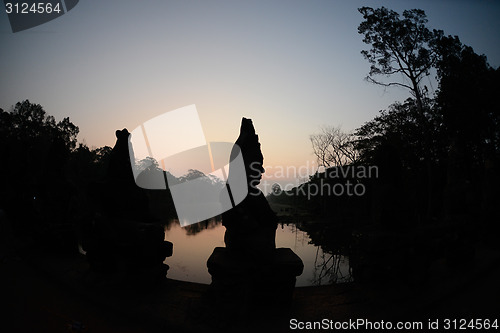
[[[240,148],[245,164],[248,195],[236,207],[222,214],[222,224],[226,227],[224,242],[228,250],[242,255],[266,256],[276,248],[278,224],[264,194],[257,188],[265,172],[264,157],[251,119],[242,119],[235,144]]]

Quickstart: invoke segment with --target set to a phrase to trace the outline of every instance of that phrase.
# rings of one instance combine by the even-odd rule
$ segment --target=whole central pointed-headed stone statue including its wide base
[[[246,118],[231,152],[228,179],[236,181],[226,184],[230,196],[230,184],[245,185],[240,153],[248,193],[236,205],[232,200],[233,208],[222,214],[226,247],[216,247],[207,260],[212,276],[209,295],[214,302],[209,313],[222,320],[286,313],[296,277],[304,270],[302,260],[291,249],[276,248],[278,218],[257,188],[265,171],[264,157],[252,120]],[[239,193],[239,188],[234,190]]]

